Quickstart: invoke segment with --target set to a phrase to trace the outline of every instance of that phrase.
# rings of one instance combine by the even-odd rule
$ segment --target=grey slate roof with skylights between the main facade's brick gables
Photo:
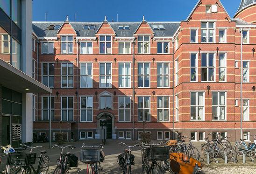
[[[38,37],[56,37],[58,30],[47,29],[50,25],[62,25],[64,22],[33,22],[33,31]],[[113,28],[117,37],[133,37],[136,29],[141,22],[108,22]],[[98,30],[102,22],[70,22],[71,26],[77,32],[78,37],[95,37],[95,32]],[[153,25],[164,25],[164,30],[153,30],[156,37],[172,37],[177,31],[180,22],[148,22],[153,30]],[[94,30],[83,30],[84,25],[95,25]],[[129,30],[118,30],[119,25],[128,25]]]

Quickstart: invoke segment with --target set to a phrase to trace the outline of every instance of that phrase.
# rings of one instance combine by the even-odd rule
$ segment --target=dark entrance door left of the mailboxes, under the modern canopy
[[[11,144],[10,133],[11,133],[11,119],[10,117],[2,116],[2,145],[7,146]]]

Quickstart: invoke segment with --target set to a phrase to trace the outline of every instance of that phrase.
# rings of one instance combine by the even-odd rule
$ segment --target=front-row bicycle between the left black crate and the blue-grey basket
[[[76,146],[58,146],[58,145],[53,145],[52,149],[54,147],[59,147],[61,148],[61,153],[60,157],[57,159],[57,166],[53,171],[53,174],[68,174],[70,170],[70,152],[63,153],[64,148],[69,148],[69,149],[74,149]],[[68,160],[69,158],[69,160]]]

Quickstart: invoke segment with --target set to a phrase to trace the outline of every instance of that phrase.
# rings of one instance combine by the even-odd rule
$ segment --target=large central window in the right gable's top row
[[[201,23],[201,42],[215,42],[215,22]]]

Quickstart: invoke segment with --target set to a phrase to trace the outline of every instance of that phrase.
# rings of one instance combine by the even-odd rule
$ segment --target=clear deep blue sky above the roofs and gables
[[[181,21],[198,0],[33,0],[33,21]],[[221,0],[233,17],[241,0]]]

